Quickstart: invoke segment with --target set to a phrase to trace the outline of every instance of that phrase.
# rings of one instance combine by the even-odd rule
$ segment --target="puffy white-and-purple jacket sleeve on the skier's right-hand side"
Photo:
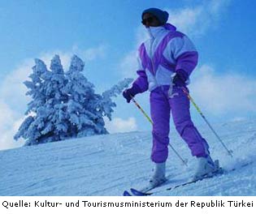
[[[176,61],[176,72],[182,71],[188,79],[198,62],[197,49],[192,41],[185,35],[174,38],[171,45],[171,54]]]

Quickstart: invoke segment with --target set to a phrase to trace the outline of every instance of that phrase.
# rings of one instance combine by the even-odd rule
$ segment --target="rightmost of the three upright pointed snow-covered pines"
[[[102,113],[97,108],[102,97],[94,92],[93,83],[82,74],[84,66],[85,63],[74,55],[66,73],[68,133],[73,137],[107,134]]]

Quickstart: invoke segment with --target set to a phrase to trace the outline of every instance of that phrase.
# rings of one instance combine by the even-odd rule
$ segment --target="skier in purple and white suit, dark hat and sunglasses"
[[[138,78],[132,87],[123,92],[129,103],[138,93],[150,91],[150,114],[153,121],[153,147],[151,160],[154,172],[150,185],[159,186],[166,182],[166,160],[168,156],[170,113],[176,130],[188,144],[193,156],[197,157],[194,180],[200,179],[217,169],[210,157],[206,139],[193,125],[189,112],[189,76],[197,66],[198,53],[189,37],[176,31],[167,23],[167,11],[149,8],[142,12],[141,23],[150,39],[138,49]]]

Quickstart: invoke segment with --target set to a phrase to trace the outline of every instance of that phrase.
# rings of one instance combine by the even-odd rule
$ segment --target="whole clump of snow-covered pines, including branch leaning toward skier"
[[[102,95],[94,92],[82,74],[85,63],[76,55],[72,57],[65,74],[59,56],[50,64],[50,70],[40,59],[35,60],[31,81],[24,84],[33,101],[28,104],[27,118],[21,124],[15,139],[26,140],[25,145],[47,143],[75,137],[107,134],[103,118],[111,120],[117,96],[132,79],[124,79]]]

